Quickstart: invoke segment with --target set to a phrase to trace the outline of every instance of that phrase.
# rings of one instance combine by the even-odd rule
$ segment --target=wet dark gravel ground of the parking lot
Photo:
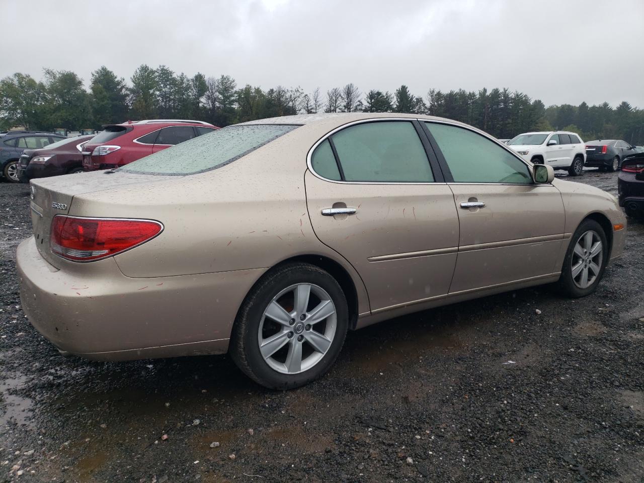
[[[576,180],[616,192],[614,173]],[[0,184],[0,482],[643,481],[641,223],[592,296],[516,290],[352,332],[290,392],[226,356],[59,356],[20,308],[30,225],[26,185]]]

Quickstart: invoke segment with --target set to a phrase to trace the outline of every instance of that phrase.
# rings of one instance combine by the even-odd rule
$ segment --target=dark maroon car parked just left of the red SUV
[[[43,149],[25,149],[18,163],[19,180],[28,183],[32,178],[80,173],[82,147],[93,137],[62,138]]]

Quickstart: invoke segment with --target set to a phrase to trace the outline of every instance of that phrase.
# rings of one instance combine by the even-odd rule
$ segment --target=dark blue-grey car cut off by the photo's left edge
[[[25,149],[41,149],[52,142],[65,139],[44,131],[8,131],[0,136],[0,177],[19,182],[18,160]]]

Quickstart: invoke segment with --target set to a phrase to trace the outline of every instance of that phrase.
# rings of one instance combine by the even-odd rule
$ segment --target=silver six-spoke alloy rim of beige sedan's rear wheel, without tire
[[[297,283],[270,301],[258,330],[260,354],[281,374],[298,374],[327,354],[337,329],[336,306],[318,285]]]

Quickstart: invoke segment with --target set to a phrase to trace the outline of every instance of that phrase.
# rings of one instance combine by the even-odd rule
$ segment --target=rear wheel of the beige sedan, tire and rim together
[[[308,263],[265,274],[245,299],[231,335],[231,356],[256,383],[292,389],[321,377],[336,361],[348,329],[339,283]]]

